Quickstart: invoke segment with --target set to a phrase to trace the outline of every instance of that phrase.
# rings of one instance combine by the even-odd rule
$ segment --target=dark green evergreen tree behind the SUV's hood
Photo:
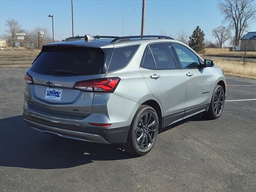
[[[189,37],[188,45],[198,53],[204,53],[204,32],[199,28],[193,31],[192,36]]]

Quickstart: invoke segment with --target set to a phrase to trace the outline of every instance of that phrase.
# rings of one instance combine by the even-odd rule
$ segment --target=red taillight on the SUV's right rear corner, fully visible
[[[74,85],[74,88],[82,91],[88,91],[88,92],[113,93],[119,82],[120,82],[119,77],[86,80],[86,81],[76,82],[76,84]]]

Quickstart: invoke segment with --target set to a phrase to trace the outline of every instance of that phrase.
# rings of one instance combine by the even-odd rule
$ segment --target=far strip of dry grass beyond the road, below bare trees
[[[205,53],[202,56],[217,56],[217,57],[242,57],[242,51],[229,51],[228,48],[205,48]],[[248,51],[248,58],[256,58],[256,51]]]

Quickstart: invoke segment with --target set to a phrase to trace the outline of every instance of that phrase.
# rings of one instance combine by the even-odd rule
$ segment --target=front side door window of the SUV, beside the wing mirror
[[[200,62],[192,51],[179,44],[173,44],[173,46],[178,54],[182,68],[198,68]]]

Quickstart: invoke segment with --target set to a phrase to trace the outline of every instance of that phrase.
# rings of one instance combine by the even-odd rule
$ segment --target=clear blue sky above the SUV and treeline
[[[217,4],[215,0],[147,0],[145,34],[158,35],[164,30],[168,36],[176,36],[184,30],[191,35],[199,25],[205,38],[215,42],[212,29],[223,20]],[[142,0],[74,0],[75,34],[122,36],[122,18],[130,8],[137,10],[126,14],[124,35],[140,35]],[[49,14],[54,15],[56,40],[62,33],[62,39],[72,36],[71,0],[0,0],[0,34],[6,33],[4,23],[9,18],[18,20],[25,30],[41,26],[52,34]],[[256,22],[250,24],[250,31],[256,31]]]

